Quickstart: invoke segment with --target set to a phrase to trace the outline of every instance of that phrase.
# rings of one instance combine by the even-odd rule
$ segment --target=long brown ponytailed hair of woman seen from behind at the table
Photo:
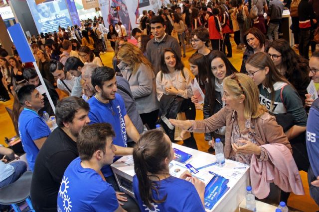
[[[154,199],[152,190],[155,190],[159,197],[159,184],[153,182],[150,177],[157,177],[157,174],[166,171],[164,160],[170,157],[170,150],[170,143],[159,130],[144,133],[133,150],[134,170],[139,181],[140,195],[149,209],[153,208],[152,203],[163,203],[167,198],[166,194],[161,200]]]

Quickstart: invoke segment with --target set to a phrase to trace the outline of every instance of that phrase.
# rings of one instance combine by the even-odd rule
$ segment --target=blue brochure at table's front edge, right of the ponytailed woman
[[[228,179],[215,174],[205,188],[205,209],[211,210],[217,201],[228,191]]]

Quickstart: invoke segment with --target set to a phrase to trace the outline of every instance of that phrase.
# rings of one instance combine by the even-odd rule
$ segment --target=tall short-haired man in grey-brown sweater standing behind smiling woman
[[[146,57],[154,67],[154,73],[160,71],[160,54],[164,48],[172,48],[177,56],[181,58],[181,51],[178,41],[165,33],[165,21],[160,16],[153,16],[150,20],[151,32],[154,38],[150,40],[146,46]]]

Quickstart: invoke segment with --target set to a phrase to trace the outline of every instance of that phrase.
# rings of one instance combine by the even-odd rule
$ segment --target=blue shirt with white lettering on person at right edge
[[[318,141],[318,142],[317,142]],[[319,176],[319,99],[316,99],[309,110],[306,143],[308,157],[316,177]]]

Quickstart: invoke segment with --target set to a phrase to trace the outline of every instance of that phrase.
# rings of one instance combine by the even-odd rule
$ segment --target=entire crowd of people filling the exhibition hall
[[[286,203],[290,192],[303,193],[292,185],[300,183],[298,170],[308,172],[319,205],[319,100],[307,91],[311,79],[319,83],[319,52],[312,48],[309,58],[307,36],[314,26],[306,24],[315,24],[319,13],[312,2],[297,4],[298,55],[278,35],[284,7],[293,13],[294,6],[295,0],[183,0],[143,11],[132,32],[119,20],[107,30],[102,18],[59,28],[29,39],[44,85],[14,47],[12,57],[1,50],[1,100],[10,99],[8,92],[14,98],[12,120],[33,172],[35,211],[204,211],[204,183],[188,172],[181,179],[169,175],[177,127],[190,132],[187,147],[198,149],[193,132],[205,133],[208,152],[219,138],[226,158],[274,167],[262,176],[285,179],[279,170],[288,170],[295,180],[277,185]],[[232,33],[243,52],[240,70],[228,59]],[[137,45],[127,41],[129,34]],[[100,58],[106,42],[114,49],[112,68]],[[182,62],[188,44],[196,50],[190,69]],[[57,88],[68,97],[60,98]],[[195,121],[200,110],[204,120]],[[42,118],[44,112],[55,116],[57,128]],[[157,124],[163,131],[155,130]],[[0,153],[13,157],[4,150],[0,146]],[[131,154],[136,200],[120,191],[110,168]],[[1,187],[26,170],[17,165],[0,162],[6,170]]]

